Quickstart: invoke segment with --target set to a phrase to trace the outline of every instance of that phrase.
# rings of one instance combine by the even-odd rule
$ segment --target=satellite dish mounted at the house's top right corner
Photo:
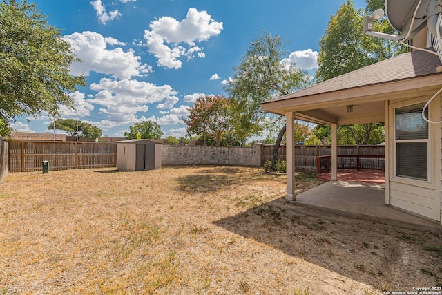
[[[385,14],[390,25],[401,32],[400,35],[390,35],[373,32],[372,26],[378,17],[379,10],[372,16],[364,18],[364,33],[375,37],[406,41],[412,39],[426,26],[436,36],[438,17],[441,14],[441,0],[385,0]],[[376,12],[377,15],[376,15]]]

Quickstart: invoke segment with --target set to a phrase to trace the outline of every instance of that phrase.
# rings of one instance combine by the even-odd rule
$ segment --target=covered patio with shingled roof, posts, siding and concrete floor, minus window
[[[415,219],[421,225],[436,224],[440,228],[441,126],[428,127],[429,168],[425,180],[398,175],[394,128],[396,109],[421,106],[439,91],[441,66],[435,55],[414,51],[262,103],[262,111],[284,115],[287,120],[286,199],[325,208],[330,204],[332,210],[368,214],[374,219],[383,216],[391,216],[398,222]],[[437,98],[428,108],[428,116],[434,121],[441,120],[440,95]],[[332,171],[327,175],[332,182],[299,196],[295,194],[294,124],[291,124],[294,120],[332,128]],[[338,173],[337,169],[338,126],[365,123],[385,124],[385,173],[377,175],[374,184],[360,182],[362,177],[358,178],[358,173]],[[380,177],[384,184],[376,183]],[[374,189],[379,185],[383,185],[382,189]],[[378,216],[382,212],[383,216]]]

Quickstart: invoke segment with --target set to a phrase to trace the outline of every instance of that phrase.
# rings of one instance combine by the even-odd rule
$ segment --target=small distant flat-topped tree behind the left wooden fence
[[[63,130],[68,133],[76,140],[77,137],[86,137],[90,140],[95,140],[102,136],[102,130],[97,126],[93,126],[88,122],[81,122],[80,120],[74,119],[57,119],[55,124],[50,124],[48,129]]]

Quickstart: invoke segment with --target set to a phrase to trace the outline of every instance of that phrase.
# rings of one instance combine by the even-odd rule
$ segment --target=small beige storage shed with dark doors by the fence
[[[144,171],[161,168],[160,142],[122,140],[117,142],[117,170]]]

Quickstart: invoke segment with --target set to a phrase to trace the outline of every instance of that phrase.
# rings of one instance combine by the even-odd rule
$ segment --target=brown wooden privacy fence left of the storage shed
[[[115,167],[117,144],[97,142],[9,143],[9,171],[41,171],[49,161],[50,170]]]

